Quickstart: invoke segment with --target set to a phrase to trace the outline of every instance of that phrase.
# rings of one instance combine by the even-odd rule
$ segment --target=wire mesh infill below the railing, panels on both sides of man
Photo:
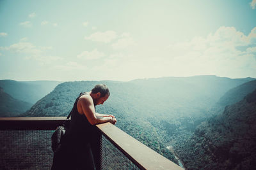
[[[54,131],[0,131],[0,169],[51,169]],[[139,169],[102,136],[102,169]]]

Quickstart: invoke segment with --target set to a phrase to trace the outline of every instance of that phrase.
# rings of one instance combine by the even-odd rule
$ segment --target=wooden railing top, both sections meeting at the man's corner
[[[0,131],[54,130],[65,117],[0,118]],[[166,159],[140,141],[110,123],[96,125],[99,134],[106,137],[125,157],[140,169],[179,169],[182,167]],[[100,167],[102,169],[102,167]]]

